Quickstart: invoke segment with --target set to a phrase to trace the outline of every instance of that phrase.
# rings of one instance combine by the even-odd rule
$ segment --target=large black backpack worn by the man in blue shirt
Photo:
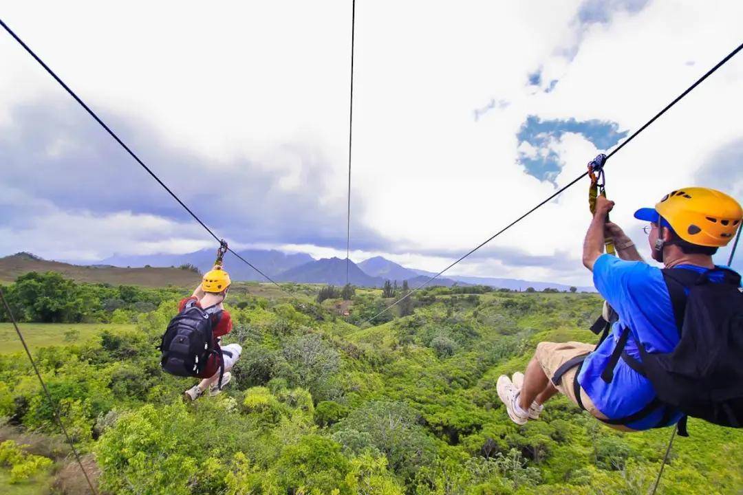
[[[710,282],[711,271],[664,269],[681,341],[670,353],[638,347],[658,400],[687,416],[743,427],[741,277],[716,271],[724,276],[721,283]]]

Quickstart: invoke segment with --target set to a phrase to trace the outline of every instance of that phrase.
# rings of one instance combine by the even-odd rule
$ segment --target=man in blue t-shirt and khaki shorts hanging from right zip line
[[[499,378],[498,395],[516,424],[537,419],[542,404],[558,392],[625,431],[668,426],[684,416],[659,404],[652,384],[639,372],[637,346],[648,353],[669,353],[678,344],[679,330],[663,272],[642,260],[619,226],[606,222],[613,207],[605,197],[597,198],[583,264],[593,272],[594,285],[618,320],[598,347],[541,342],[525,374]],[[645,230],[653,259],[666,268],[711,271],[710,281],[715,282],[722,274],[715,271],[712,255],[734,237],[743,210],[720,191],[686,188],[666,194],[655,209],[637,210],[635,217],[650,222]],[[614,240],[619,258],[603,254],[606,235]],[[615,353],[617,347],[621,349]]]

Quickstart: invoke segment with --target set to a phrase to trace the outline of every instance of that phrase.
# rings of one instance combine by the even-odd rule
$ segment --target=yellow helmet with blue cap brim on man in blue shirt
[[[663,196],[655,209],[642,208],[635,218],[669,223],[673,231],[697,246],[727,246],[743,219],[739,203],[724,192],[705,187],[687,187]]]

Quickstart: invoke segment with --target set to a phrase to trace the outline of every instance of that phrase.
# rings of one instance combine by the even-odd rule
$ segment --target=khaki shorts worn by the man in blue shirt
[[[563,363],[569,361],[572,358],[576,358],[579,355],[591,353],[595,347],[596,346],[594,344],[584,344],[583,342],[539,342],[539,344],[537,344],[536,346],[534,358],[536,358],[536,361],[539,362],[539,366],[542,367],[545,375],[547,375],[547,377],[552,380],[555,372],[560,366],[562,366]],[[562,378],[559,379],[557,385],[555,385],[555,388],[557,388],[560,393],[568,396],[568,399],[573,401],[575,404],[578,404],[578,401],[575,398],[574,389],[574,381],[577,378],[577,370],[578,367],[576,366],[566,371],[565,374],[562,375]],[[591,401],[591,398],[588,397],[588,394],[585,393],[585,390],[583,390],[583,388],[580,389],[580,400],[583,402],[583,407],[585,407],[585,410],[587,410],[588,413],[591,413],[591,416],[597,417],[599,419],[607,419],[606,416],[597,409],[597,407],[594,405],[594,402]],[[615,430],[635,431],[622,424],[606,425],[614,428]]]

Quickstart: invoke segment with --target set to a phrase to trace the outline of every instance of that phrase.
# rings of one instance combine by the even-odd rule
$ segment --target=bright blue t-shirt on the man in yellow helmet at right
[[[680,265],[675,268],[705,272],[701,266]],[[710,274],[710,281],[721,281],[722,273]],[[629,367],[623,359],[614,368],[614,379],[601,379],[609,356],[614,351],[625,327],[631,332],[625,351],[642,361],[637,350],[637,338],[645,343],[649,353],[669,353],[678,344],[671,296],[663,280],[661,269],[643,261],[625,261],[611,255],[601,255],[594,263],[594,285],[619,315],[608,338],[583,363],[578,382],[594,405],[611,419],[637,413],[652,399],[655,390],[650,381]],[[683,416],[673,413],[667,424],[659,425],[663,407],[639,421],[627,424],[633,430],[675,424]]]

